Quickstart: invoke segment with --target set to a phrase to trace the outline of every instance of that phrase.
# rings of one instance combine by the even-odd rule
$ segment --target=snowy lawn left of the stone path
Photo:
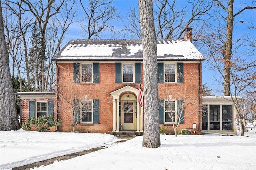
[[[110,134],[98,133],[0,131],[0,170],[106,146],[116,140]]]

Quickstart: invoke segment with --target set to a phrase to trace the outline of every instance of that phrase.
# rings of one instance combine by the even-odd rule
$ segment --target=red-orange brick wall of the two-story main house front
[[[58,94],[65,93],[66,98],[83,99],[85,95],[90,99],[99,99],[99,123],[89,125],[76,126],[78,132],[100,132],[109,133],[113,127],[113,102],[111,92],[121,89],[127,85],[135,89],[139,89],[140,83],[115,83],[115,63],[99,63],[100,76],[99,83],[73,83],[73,63],[57,63],[58,65]],[[198,70],[201,70],[199,62],[184,63],[184,83],[159,83],[159,99],[165,99],[166,94],[164,89],[168,90],[168,96],[172,95],[174,98],[188,97],[187,108],[184,110],[184,123],[180,124],[179,130],[183,128],[191,128],[192,125],[197,124],[199,114],[199,91],[201,80],[199,81]],[[143,63],[141,64],[141,79],[143,91]],[[74,97],[75,96],[75,97]],[[58,130],[64,132],[72,131],[69,117],[72,117],[72,108],[69,106],[69,113],[65,113],[60,105],[64,105],[64,101],[58,98],[58,117],[62,119],[62,125]],[[67,106],[65,106],[67,107]],[[168,132],[174,133],[171,125],[160,124],[160,126],[168,126]],[[194,129],[198,134],[198,130]],[[192,131],[194,131],[192,130]]]

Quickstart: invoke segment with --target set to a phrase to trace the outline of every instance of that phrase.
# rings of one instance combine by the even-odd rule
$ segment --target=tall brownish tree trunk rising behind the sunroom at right
[[[224,48],[224,96],[230,96],[230,61],[232,54],[232,35],[233,35],[233,5],[234,0],[228,2],[228,16],[226,27],[226,43]]]

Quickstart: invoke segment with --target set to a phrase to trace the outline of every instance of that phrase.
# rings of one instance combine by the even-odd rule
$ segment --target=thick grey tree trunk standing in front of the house
[[[142,146],[160,146],[157,49],[152,0],[139,0],[144,69],[144,136]]]

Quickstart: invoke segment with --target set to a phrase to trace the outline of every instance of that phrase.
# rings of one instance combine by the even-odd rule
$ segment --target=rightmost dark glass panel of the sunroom
[[[222,105],[222,130],[233,130],[232,105]]]

